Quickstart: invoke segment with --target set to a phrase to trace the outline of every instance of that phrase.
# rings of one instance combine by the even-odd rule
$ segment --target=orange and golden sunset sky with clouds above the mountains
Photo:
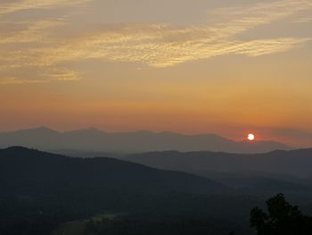
[[[311,0],[0,0],[0,130],[312,147]]]

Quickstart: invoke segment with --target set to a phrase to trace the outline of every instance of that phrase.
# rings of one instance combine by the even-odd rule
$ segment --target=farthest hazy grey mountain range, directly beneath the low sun
[[[289,147],[273,141],[236,142],[215,134],[183,135],[172,132],[135,131],[107,133],[96,129],[57,132],[45,127],[1,133],[0,144],[45,150],[72,149],[111,153],[149,151],[222,151],[264,153]]]

